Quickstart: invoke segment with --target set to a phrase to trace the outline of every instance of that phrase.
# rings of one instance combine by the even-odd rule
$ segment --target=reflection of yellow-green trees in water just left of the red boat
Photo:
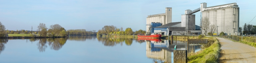
[[[122,45],[125,42],[126,45],[131,45],[133,39],[132,38],[101,38],[97,37],[99,42],[102,42],[105,46],[115,46],[117,44]]]

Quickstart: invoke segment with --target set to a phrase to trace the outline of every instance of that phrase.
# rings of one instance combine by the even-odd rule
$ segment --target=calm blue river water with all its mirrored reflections
[[[168,39],[70,36],[58,39],[0,39],[0,63],[173,63],[174,46]],[[189,52],[201,50],[189,45]]]

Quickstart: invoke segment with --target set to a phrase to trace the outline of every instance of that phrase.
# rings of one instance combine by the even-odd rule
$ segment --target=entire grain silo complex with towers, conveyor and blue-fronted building
[[[185,14],[181,15],[181,22],[171,21],[171,9],[165,8],[166,13],[157,15],[148,15],[146,19],[147,33],[161,33],[162,35],[199,35],[204,34],[205,30],[195,25],[195,12],[201,11],[200,19],[206,17],[210,21],[210,25],[218,27],[215,32],[228,33],[230,35],[240,35],[239,28],[239,7],[236,3],[229,3],[219,6],[207,7],[207,3],[201,3],[200,8],[195,10],[185,10]],[[200,22],[201,22],[200,20]],[[159,26],[162,23],[162,26]],[[209,25],[209,26],[210,26]],[[157,27],[155,27],[157,26]],[[207,33],[206,33],[207,34]]]

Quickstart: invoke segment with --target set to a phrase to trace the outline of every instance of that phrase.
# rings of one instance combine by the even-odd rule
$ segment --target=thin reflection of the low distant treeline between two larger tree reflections
[[[75,40],[75,41],[85,41],[86,39],[93,39],[94,37],[90,36],[69,36],[68,40]]]

